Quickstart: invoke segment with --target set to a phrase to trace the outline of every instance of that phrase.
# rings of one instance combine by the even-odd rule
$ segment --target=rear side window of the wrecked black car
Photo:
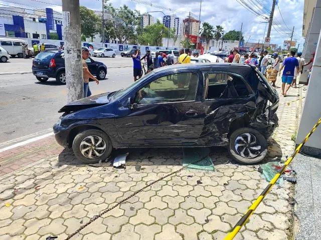
[[[208,89],[205,99],[247,97],[252,93],[248,84],[235,75],[207,73]]]

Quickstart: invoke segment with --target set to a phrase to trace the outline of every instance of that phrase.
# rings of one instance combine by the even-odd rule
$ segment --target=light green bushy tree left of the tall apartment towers
[[[158,19],[154,24],[140,29],[137,36],[138,42],[142,45],[162,46],[162,38],[167,37],[168,28]]]

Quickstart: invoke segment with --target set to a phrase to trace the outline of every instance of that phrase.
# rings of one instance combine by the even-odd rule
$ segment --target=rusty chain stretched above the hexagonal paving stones
[[[182,170],[184,170],[185,168],[187,168],[189,165],[191,164],[195,164],[201,160],[203,160],[206,156],[202,157],[201,159],[197,160],[197,161],[194,161],[194,162],[191,162],[183,167],[181,167],[180,169],[176,170],[176,171],[173,171],[173,172],[170,172],[168,174],[166,174],[165,176],[162,176],[160,178],[158,178],[157,180],[154,180],[152,182],[150,182],[149,184],[145,185],[144,187],[140,188],[139,190],[135,191],[134,193],[132,193],[131,195],[127,196],[126,198],[122,199],[121,201],[117,202],[115,205],[113,205],[112,207],[102,211],[101,213],[99,213],[98,215],[95,215],[94,217],[92,217],[86,224],[82,225],[78,230],[76,230],[75,232],[73,232],[71,235],[69,235],[65,240],[69,240],[71,237],[73,237],[74,235],[76,235],[77,233],[79,233],[83,228],[85,228],[86,226],[88,226],[90,223],[92,223],[93,221],[95,221],[98,217],[101,217],[103,214],[105,214],[106,212],[114,209],[116,206],[119,206],[121,203],[123,203],[124,201],[128,200],[129,198],[133,197],[134,195],[136,195],[137,193],[141,192],[142,190],[146,189],[147,187],[155,184],[156,182],[160,181],[160,180],[163,180],[164,178],[170,176],[170,175],[173,175],[173,174],[176,174]]]

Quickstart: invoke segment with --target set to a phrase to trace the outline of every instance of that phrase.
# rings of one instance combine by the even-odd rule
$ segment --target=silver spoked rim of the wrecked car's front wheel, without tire
[[[97,135],[86,136],[80,142],[80,152],[87,158],[97,158],[101,156],[106,150],[106,143],[104,139]]]

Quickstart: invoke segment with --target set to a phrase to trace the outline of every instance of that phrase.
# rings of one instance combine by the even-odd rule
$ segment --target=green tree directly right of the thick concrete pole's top
[[[91,41],[93,41],[95,34],[99,32],[99,21],[101,22],[100,17],[93,10],[80,6],[81,33],[85,37],[90,37]]]

